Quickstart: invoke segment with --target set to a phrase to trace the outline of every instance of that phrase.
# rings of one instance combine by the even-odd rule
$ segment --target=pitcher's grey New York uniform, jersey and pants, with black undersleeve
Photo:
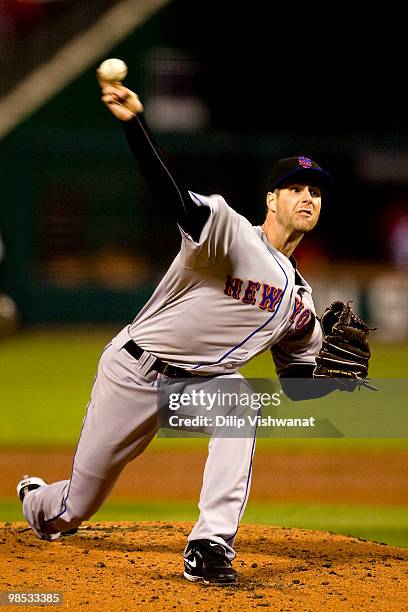
[[[177,185],[147,126],[136,117],[125,131],[152,190],[174,204],[177,219],[182,225],[184,219],[196,237],[198,221],[206,215],[195,217],[203,210],[188,206],[187,192]],[[219,380],[179,381],[187,391],[190,385],[243,381],[236,370],[266,349],[272,350],[278,374],[291,365],[315,363],[320,325],[311,288],[293,263],[221,196],[190,192],[190,197],[209,209],[207,222],[197,242],[180,228],[180,252],[151,299],[103,351],[70,479],[24,498],[24,515],[41,538],[56,539],[90,518],[125,465],[154,438],[159,391],[167,381],[154,369],[154,356],[197,374],[220,375]],[[140,358],[125,348],[129,336],[146,351]],[[232,416],[235,409],[239,403]],[[229,559],[235,556],[248,499],[255,437],[256,424],[244,437],[212,436],[200,516],[188,537],[220,544]]]

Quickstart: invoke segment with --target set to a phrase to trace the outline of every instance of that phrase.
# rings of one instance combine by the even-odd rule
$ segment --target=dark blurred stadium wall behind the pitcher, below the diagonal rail
[[[107,56],[127,62],[146,111],[163,95],[168,110],[193,96],[206,111],[191,129],[151,123],[191,189],[259,223],[271,163],[308,155],[335,188],[300,262],[392,266],[408,201],[402,25],[373,7],[174,0]],[[181,69],[166,72],[163,54]],[[2,282],[27,321],[126,319],[178,249],[171,211],[99,101],[96,67],[0,143]],[[378,155],[398,172],[379,177]]]

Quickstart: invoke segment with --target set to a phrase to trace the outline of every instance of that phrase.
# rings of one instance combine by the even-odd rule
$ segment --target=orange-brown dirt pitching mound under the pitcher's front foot
[[[0,591],[61,592],[53,610],[408,609],[408,550],[328,532],[243,525],[240,583],[182,578],[190,523],[86,523],[57,542],[0,524]],[[19,609],[33,610],[32,606]],[[51,609],[50,607],[48,609]]]

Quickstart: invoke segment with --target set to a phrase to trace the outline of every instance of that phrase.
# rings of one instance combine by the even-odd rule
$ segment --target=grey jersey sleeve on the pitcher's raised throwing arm
[[[209,217],[197,240],[179,225],[181,261],[187,268],[205,268],[216,264],[228,253],[238,230],[240,215],[220,195],[202,196],[192,191],[189,194],[195,206],[209,211]]]

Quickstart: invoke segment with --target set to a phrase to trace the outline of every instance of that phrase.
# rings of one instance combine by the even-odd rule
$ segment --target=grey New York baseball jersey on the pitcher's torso
[[[220,195],[190,192],[210,208],[129,333],[164,361],[203,374],[231,372],[271,348],[278,374],[314,364],[321,342],[311,287],[291,261]]]

